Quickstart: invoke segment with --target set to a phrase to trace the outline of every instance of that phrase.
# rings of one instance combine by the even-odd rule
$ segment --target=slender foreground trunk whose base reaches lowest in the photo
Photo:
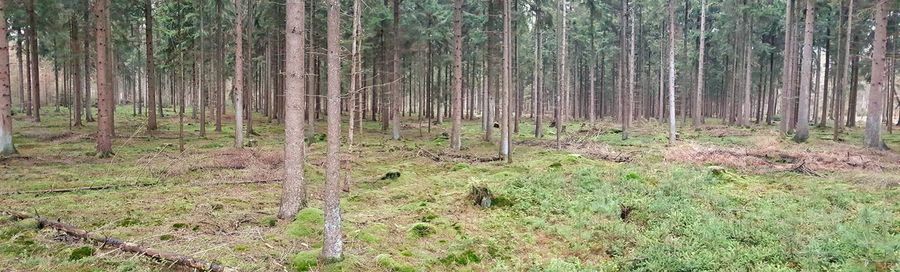
[[[396,0],[395,0],[396,1]],[[341,14],[340,1],[328,0],[328,148],[325,160],[325,244],[322,259],[341,259]],[[397,112],[396,114],[399,114]]]

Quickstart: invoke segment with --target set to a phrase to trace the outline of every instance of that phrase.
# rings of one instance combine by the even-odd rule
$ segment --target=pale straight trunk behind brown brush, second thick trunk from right
[[[806,0],[806,22],[803,30],[803,60],[800,67],[800,96],[797,108],[797,134],[794,141],[806,142],[809,139],[809,90],[812,76],[813,32],[816,20],[815,0]]]

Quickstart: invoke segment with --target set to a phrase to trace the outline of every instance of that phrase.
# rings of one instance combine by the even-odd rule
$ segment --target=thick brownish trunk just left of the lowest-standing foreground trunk
[[[278,218],[293,220],[306,207],[304,120],[306,113],[306,1],[287,2],[285,25],[284,184]]]

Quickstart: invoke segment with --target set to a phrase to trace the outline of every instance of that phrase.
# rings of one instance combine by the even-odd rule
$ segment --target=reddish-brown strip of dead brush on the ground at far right
[[[670,148],[667,161],[721,165],[747,172],[792,171],[807,175],[847,170],[892,171],[900,169],[897,154],[835,146],[827,150],[779,148],[723,148],[685,144]]]

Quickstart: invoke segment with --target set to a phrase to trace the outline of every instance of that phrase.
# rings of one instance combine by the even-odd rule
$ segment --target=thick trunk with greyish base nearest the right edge
[[[872,41],[872,85],[869,87],[869,109],[866,116],[866,147],[885,149],[881,140],[881,117],[884,110],[884,89],[888,83],[885,75],[885,51],[887,47],[887,15],[890,13],[888,0],[875,2],[875,39]],[[890,81],[893,81],[893,75]]]

